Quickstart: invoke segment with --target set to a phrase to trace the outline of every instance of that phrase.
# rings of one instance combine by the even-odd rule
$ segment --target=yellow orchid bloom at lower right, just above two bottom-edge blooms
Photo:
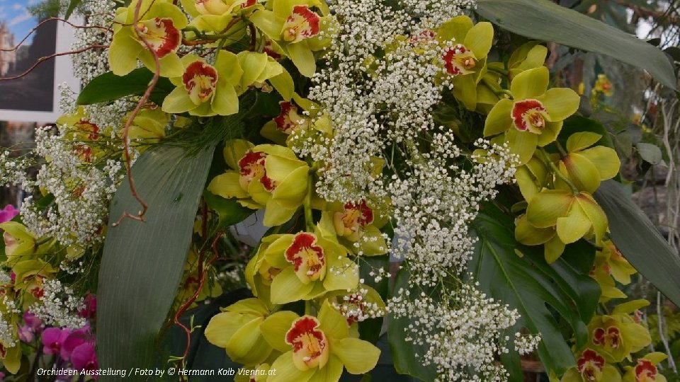
[[[630,316],[647,305],[646,300],[628,301],[616,306],[610,315],[594,316],[588,324],[589,346],[607,361],[620,362],[650,345],[649,330]]]

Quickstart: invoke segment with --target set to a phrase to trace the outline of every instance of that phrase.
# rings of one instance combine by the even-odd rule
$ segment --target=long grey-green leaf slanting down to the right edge
[[[680,306],[680,257],[622,187],[607,180],[593,195],[607,214],[611,241],[645,279]]]

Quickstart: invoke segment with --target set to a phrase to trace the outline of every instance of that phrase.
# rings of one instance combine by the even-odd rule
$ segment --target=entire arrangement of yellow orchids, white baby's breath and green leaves
[[[426,381],[521,381],[520,357],[665,381],[623,290],[638,267],[679,303],[672,278],[619,239],[619,156],[540,42],[470,0],[79,3],[83,90],[0,156],[30,192],[0,224],[6,378],[188,380],[201,346],[237,380],[381,378],[387,332]]]

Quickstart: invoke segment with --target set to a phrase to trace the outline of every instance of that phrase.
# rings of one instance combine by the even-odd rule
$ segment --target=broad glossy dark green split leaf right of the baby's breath
[[[491,208],[472,223],[479,241],[468,269],[480,283],[480,290],[519,311],[517,326],[531,333],[540,332],[540,360],[548,371],[562,374],[575,360],[556,318],[560,316],[570,325],[577,342],[587,341],[586,322],[594,313],[599,288],[587,273],[581,272],[582,266],[562,258],[548,265],[540,247],[519,246],[510,219],[498,213],[492,216],[493,211],[488,211]],[[520,248],[524,256],[516,255],[515,248]],[[592,264],[594,251],[581,255],[587,257],[581,261]],[[504,364],[516,367],[518,357],[506,356]],[[521,374],[511,375],[513,381],[522,381]]]

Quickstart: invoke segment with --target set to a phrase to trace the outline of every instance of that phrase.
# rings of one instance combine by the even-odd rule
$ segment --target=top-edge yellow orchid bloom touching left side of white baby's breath
[[[271,11],[259,9],[249,20],[288,56],[303,76],[311,77],[316,71],[314,51],[329,42],[328,36],[319,35],[328,28],[326,17],[319,16],[313,8],[327,15],[328,6],[318,0],[272,0]]]

